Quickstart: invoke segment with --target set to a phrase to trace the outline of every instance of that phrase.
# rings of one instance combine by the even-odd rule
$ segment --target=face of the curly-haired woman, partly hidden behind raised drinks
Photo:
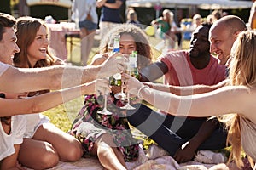
[[[136,51],[136,42],[134,38],[129,34],[122,34],[120,37],[120,53],[131,54],[132,51]]]

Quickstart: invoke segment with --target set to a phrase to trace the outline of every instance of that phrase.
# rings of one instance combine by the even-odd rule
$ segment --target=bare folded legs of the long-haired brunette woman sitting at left
[[[82,155],[79,140],[51,123],[44,123],[38,127],[32,139],[26,139],[21,144],[19,161],[29,167],[36,166],[37,169],[38,164],[45,162],[41,166],[49,168],[54,167],[59,160],[77,161]]]

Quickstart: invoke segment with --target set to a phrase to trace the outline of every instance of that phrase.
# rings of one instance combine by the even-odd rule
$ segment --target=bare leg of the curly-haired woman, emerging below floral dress
[[[91,154],[97,155],[102,166],[107,169],[127,169],[122,153],[115,147],[112,136],[107,133],[102,134],[102,137],[96,140]]]

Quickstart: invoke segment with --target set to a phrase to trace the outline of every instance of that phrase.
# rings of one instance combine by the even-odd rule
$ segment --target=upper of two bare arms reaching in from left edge
[[[109,77],[125,70],[125,58],[116,59],[118,55],[114,54],[101,65],[85,67],[54,65],[25,69],[10,66],[0,78],[0,89],[12,93],[61,89],[91,82],[96,78]]]

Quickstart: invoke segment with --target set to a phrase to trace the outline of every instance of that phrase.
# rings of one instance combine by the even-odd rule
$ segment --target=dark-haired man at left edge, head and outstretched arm
[[[19,52],[15,36],[15,18],[0,13],[0,58],[11,64],[15,53]],[[18,69],[10,65],[0,65],[0,89],[4,92],[31,92],[40,89],[60,89],[91,82],[96,78],[109,77],[125,71],[125,58],[112,57],[97,66],[55,65],[47,68]],[[117,65],[117,66],[108,66]]]

